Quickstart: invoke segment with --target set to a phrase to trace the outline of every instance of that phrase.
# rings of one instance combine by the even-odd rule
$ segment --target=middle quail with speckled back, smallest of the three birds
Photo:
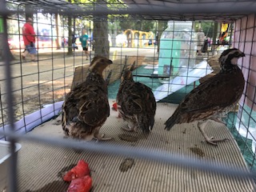
[[[117,95],[118,112],[129,123],[131,130],[139,128],[144,133],[149,133],[154,126],[154,94],[148,86],[134,82],[131,70],[122,74]]]

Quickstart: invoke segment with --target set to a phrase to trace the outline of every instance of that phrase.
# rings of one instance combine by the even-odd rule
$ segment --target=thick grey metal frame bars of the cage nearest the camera
[[[78,17],[79,15],[86,15],[88,18],[94,16],[100,18],[102,14],[130,14],[134,18],[142,18],[145,20],[175,20],[175,21],[200,21],[200,20],[214,20],[216,22],[234,22],[238,19],[248,18],[250,14],[256,14],[256,2],[255,1],[218,1],[210,0],[206,2],[202,1],[154,1],[154,0],[125,0],[117,1],[116,5],[108,4],[109,7],[102,7],[107,1],[98,1],[95,3],[90,0],[90,3],[74,3],[71,4],[64,0],[52,0],[52,1],[30,1],[30,0],[14,0],[10,3],[22,3],[22,5],[30,4],[32,7],[37,8],[41,13],[59,13],[64,15],[72,15]],[[212,7],[216,7],[213,9]],[[118,8],[117,8],[118,7]],[[231,7],[231,8],[230,8]],[[8,42],[7,32],[7,20],[10,13],[24,13],[23,10],[9,10],[6,7],[6,1],[1,1],[0,13],[3,18],[3,40]],[[34,10],[31,10],[34,13]],[[247,20],[248,21],[248,20]],[[254,22],[256,23],[256,22]],[[255,26],[254,26],[255,28]],[[241,29],[242,30],[242,29]],[[240,31],[241,32],[241,31]],[[255,33],[254,33],[255,34]],[[235,40],[234,45],[238,45],[241,41]],[[67,148],[75,148],[78,150],[90,150],[100,153],[125,155],[136,158],[143,158],[150,161],[166,162],[169,164],[175,164],[184,167],[194,167],[195,169],[210,171],[216,174],[226,174],[232,177],[241,177],[248,179],[255,179],[256,174],[254,171],[248,172],[247,170],[238,169],[237,167],[212,165],[209,162],[202,162],[196,159],[187,159],[180,154],[166,155],[162,152],[154,150],[144,149],[124,149],[122,146],[112,146],[106,143],[88,143],[86,146],[79,145],[75,141],[66,141],[63,139],[31,137],[26,134],[18,134],[14,131],[14,95],[13,95],[13,79],[11,71],[10,57],[8,57],[8,47],[3,46],[3,53],[7,55],[4,58],[4,67],[6,74],[6,105],[8,111],[9,129],[6,129],[2,135],[5,135],[10,141],[10,191],[17,191],[17,154],[15,153],[15,142],[18,140],[26,140],[29,142],[39,142],[46,145],[54,145]],[[255,56],[255,55],[254,55]],[[248,74],[249,75],[249,74]],[[255,87],[254,87],[255,88]],[[255,105],[254,94],[254,105]],[[244,98],[246,99],[246,97]],[[245,101],[244,101],[245,102]],[[250,115],[250,114],[249,114]],[[246,125],[245,125],[246,126]],[[239,136],[238,136],[239,137]],[[246,138],[247,139],[247,138]],[[246,141],[245,141],[246,142]],[[246,147],[246,146],[245,146]],[[249,148],[249,146],[247,146]]]

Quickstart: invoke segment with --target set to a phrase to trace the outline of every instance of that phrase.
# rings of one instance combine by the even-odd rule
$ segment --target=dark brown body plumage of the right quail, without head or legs
[[[173,116],[166,122],[167,129],[169,130],[171,127],[170,122],[173,125],[194,122],[233,106],[241,98],[244,87],[244,82],[237,81],[237,78],[243,78],[240,69],[234,73],[216,74],[213,78],[200,84],[190,94],[187,94]],[[229,85],[234,87],[228,88]]]

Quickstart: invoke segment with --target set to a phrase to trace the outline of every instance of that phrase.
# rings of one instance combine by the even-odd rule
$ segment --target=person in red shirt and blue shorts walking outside
[[[35,33],[32,18],[27,18],[26,23],[22,27],[22,37],[26,47],[22,58],[26,60],[26,55],[30,54],[31,60],[34,62],[34,55],[37,54],[37,50],[35,48]]]

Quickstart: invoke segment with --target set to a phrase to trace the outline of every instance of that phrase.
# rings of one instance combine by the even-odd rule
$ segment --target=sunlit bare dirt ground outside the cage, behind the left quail
[[[155,52],[154,48],[111,48],[110,59],[113,54],[117,57],[126,55],[154,57]],[[19,52],[14,52],[14,57],[16,59],[11,62],[11,77],[15,121],[39,110],[46,104],[62,101],[65,94],[70,91],[75,67],[90,63],[90,60],[86,60],[82,54],[82,50],[76,50],[71,56],[67,56],[64,50],[39,50],[38,62],[30,62],[29,57],[27,62],[21,61]],[[0,108],[2,111],[0,126],[8,121],[5,67],[4,63],[0,62],[0,70],[4,71],[0,74]]]

